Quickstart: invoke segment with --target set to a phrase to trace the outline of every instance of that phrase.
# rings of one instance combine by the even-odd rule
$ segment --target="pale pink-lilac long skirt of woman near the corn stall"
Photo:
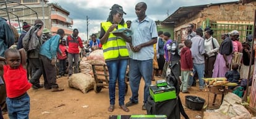
[[[229,64],[231,63],[232,60],[232,55],[227,55],[227,59]],[[229,68],[226,67],[226,62],[224,60],[223,55],[220,53],[217,55],[214,68],[213,68],[213,78],[216,77],[225,77],[225,73],[229,71]]]

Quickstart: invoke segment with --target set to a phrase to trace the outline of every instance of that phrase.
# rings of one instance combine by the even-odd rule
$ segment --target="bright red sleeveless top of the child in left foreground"
[[[4,81],[6,83],[7,97],[19,97],[28,89],[32,84],[28,83],[27,71],[22,67],[12,69],[9,65],[4,65]]]

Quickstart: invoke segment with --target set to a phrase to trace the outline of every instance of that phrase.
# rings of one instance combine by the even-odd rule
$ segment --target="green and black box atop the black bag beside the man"
[[[155,102],[162,102],[169,99],[176,99],[176,91],[174,86],[158,87],[156,85],[150,86],[150,96],[153,97]]]

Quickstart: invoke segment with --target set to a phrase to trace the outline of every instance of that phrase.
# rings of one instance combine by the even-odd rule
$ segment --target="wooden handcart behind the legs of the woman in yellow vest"
[[[96,70],[96,67],[103,69],[103,71]],[[93,76],[95,79],[95,84],[93,87],[93,90],[98,93],[101,91],[102,88],[108,88],[109,86],[109,75],[108,75],[108,70],[106,65],[92,65],[92,70],[93,70]],[[128,91],[128,81],[129,76],[126,75],[125,77],[125,83],[126,83],[126,93]],[[116,81],[116,89],[118,89],[118,80]]]

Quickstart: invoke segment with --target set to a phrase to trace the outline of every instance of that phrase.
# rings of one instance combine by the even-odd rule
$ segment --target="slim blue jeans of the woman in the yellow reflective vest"
[[[116,79],[119,87],[119,105],[124,105],[124,94],[126,93],[126,68],[128,64],[127,59],[112,60],[106,62],[109,73],[109,99],[110,104],[114,105],[116,97]]]

